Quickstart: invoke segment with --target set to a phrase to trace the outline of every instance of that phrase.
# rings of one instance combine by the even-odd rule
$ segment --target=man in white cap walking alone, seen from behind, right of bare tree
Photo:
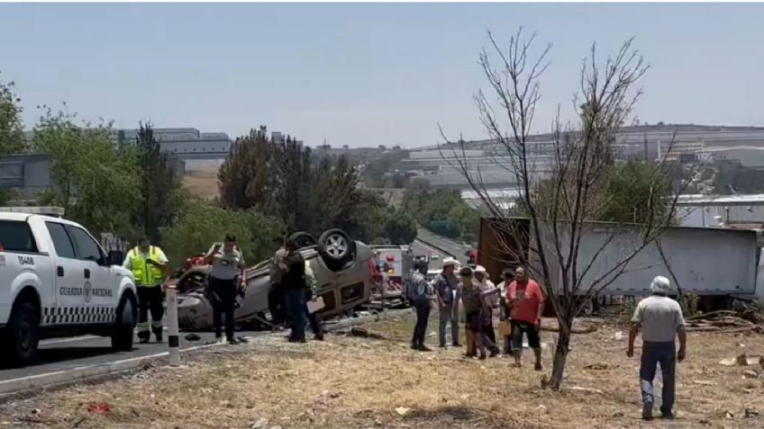
[[[640,387],[642,392],[642,418],[652,419],[653,396],[652,380],[655,378],[656,365],[660,363],[663,375],[663,404],[661,417],[674,417],[675,365],[686,356],[687,333],[685,319],[679,303],[669,295],[677,293],[669,279],[658,276],[650,284],[652,296],[642,299],[632,317],[632,329],[629,331],[629,348],[626,355],[634,355],[634,339],[640,328],[642,331],[642,355],[640,365]],[[674,337],[679,337],[679,351],[676,351]]]

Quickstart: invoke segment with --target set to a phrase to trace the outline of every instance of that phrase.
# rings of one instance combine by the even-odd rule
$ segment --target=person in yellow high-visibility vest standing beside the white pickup
[[[158,246],[151,246],[149,237],[143,236],[124,258],[123,266],[132,271],[138,289],[138,338],[141,344],[149,342],[151,331],[162,341],[162,317],[164,317],[164,273],[168,258]],[[151,323],[149,324],[149,311]]]

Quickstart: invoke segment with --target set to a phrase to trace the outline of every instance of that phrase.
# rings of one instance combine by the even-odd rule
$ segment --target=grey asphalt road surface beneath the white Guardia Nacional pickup
[[[209,344],[214,341],[212,332],[197,332],[201,337],[198,341],[186,340],[186,335],[180,333],[180,350],[189,347]],[[237,332],[237,337],[262,335],[263,332]],[[165,353],[168,351],[167,332],[164,343],[152,342],[150,344],[138,344],[136,337],[131,352],[114,353],[111,348],[111,339],[102,336],[85,335],[71,338],[59,338],[44,340],[40,343],[38,356],[40,362],[37,365],[24,368],[0,369],[0,380],[14,380],[33,375],[41,375],[54,371],[66,371],[83,366],[97,365],[108,362],[122,361],[125,359],[150,356],[152,354]]]

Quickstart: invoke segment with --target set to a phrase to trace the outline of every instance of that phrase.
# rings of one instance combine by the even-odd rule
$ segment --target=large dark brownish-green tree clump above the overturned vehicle
[[[347,156],[314,156],[291,137],[268,139],[260,127],[237,139],[218,177],[224,207],[283,219],[289,232],[342,228],[361,240],[377,237],[384,202],[359,189]]]

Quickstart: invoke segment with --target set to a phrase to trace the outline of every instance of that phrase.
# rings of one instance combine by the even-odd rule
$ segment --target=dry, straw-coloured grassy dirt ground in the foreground
[[[432,319],[430,345],[435,326]],[[639,363],[615,339],[618,327],[575,336],[560,393],[540,388],[553,333],[542,334],[546,368],[537,372],[505,357],[465,360],[453,348],[411,351],[410,315],[366,327],[386,339],[328,335],[288,344],[283,333],[265,335],[196,354],[184,369],[150,368],[8,401],[0,427],[764,427],[764,371],[719,363],[764,353],[764,335],[690,334],[687,361],[678,365],[677,420],[643,423]],[[530,363],[532,353],[525,355]],[[88,411],[102,403],[108,411]]]

